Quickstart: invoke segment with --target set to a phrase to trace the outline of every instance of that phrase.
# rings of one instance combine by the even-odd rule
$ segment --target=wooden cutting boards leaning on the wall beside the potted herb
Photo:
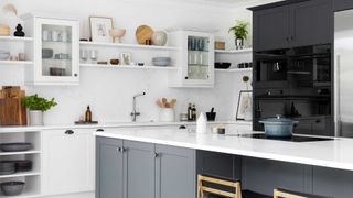
[[[0,89],[0,125],[26,125],[26,111],[22,103],[24,95],[18,86]]]

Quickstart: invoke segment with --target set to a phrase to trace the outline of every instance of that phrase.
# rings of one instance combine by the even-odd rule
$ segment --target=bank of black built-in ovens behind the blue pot
[[[331,45],[255,53],[254,130],[281,114],[299,121],[295,133],[332,135]]]

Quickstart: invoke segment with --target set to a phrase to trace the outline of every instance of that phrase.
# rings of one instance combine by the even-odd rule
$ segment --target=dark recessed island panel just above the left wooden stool
[[[196,162],[197,174],[206,174],[227,179],[240,179],[242,157],[239,156],[197,151]]]

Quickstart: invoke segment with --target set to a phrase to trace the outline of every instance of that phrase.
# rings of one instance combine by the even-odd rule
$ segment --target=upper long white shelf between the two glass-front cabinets
[[[98,42],[79,42],[81,45],[88,46],[105,46],[105,47],[119,47],[119,48],[142,48],[142,50],[160,50],[160,51],[178,51],[178,47],[171,46],[157,46],[157,45],[139,45],[139,44],[125,44],[125,43],[98,43]]]

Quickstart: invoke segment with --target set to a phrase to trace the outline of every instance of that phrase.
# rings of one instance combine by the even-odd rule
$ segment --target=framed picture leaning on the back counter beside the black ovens
[[[236,120],[245,120],[245,113],[250,108],[253,109],[253,91],[240,90],[238,98],[238,106],[236,109]]]

